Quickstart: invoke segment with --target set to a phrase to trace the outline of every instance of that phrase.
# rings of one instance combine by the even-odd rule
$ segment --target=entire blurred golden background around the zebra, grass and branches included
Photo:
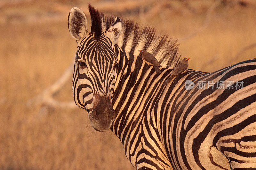
[[[0,169],[133,169],[120,140],[74,107],[68,13],[86,0],[0,1]],[[189,68],[256,57],[255,0],[92,0],[104,13],[169,33]],[[90,26],[89,26],[90,27]]]

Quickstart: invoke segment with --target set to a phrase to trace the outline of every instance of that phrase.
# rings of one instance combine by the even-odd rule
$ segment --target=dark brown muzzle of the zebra
[[[94,95],[94,107],[89,114],[92,127],[97,131],[107,131],[110,129],[112,122],[116,118],[116,112],[112,107],[110,95],[100,96]]]

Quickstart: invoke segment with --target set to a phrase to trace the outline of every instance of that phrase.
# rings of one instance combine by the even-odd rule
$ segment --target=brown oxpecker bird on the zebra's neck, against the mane
[[[151,54],[149,53],[148,51],[146,50],[139,50],[141,55],[142,55],[142,58],[143,60],[148,64],[148,65],[153,65],[155,70],[156,70],[156,73],[159,74],[161,73],[159,67],[162,67],[161,64],[156,60],[156,58]]]

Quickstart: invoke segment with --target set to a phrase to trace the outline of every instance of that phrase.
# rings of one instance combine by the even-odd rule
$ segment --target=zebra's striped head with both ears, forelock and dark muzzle
[[[91,5],[89,11],[92,19],[90,33],[82,10],[74,7],[68,16],[69,32],[77,42],[72,90],[76,105],[88,111],[92,127],[106,131],[116,118],[111,104],[118,64],[114,46],[122,24],[116,17],[113,24],[102,31],[101,13]]]

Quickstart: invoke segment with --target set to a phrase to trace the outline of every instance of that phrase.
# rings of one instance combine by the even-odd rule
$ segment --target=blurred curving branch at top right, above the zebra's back
[[[212,17],[212,12],[217,8],[217,6],[219,6],[219,4],[221,3],[222,0],[217,0],[215,1],[212,6],[209,7],[209,9],[206,12],[206,17],[205,17],[205,21],[204,21],[204,25],[202,25],[199,29],[196,29],[193,33],[191,33],[190,35],[186,36],[186,37],[182,37],[179,38],[180,42],[186,41],[188,39],[191,39],[193,37],[195,37],[198,33],[203,32],[207,26],[210,24],[210,20]]]

